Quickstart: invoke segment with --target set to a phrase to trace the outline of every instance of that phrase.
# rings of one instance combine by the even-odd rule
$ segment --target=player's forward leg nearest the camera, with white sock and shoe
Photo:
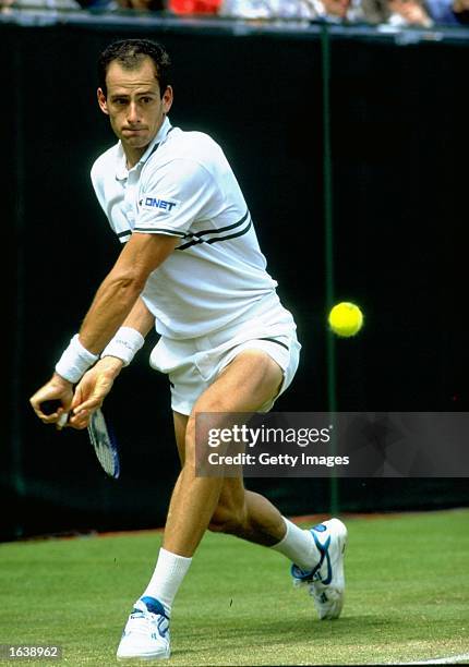
[[[125,626],[118,658],[169,657],[172,599],[218,506],[224,480],[195,476],[196,412],[255,412],[275,398],[281,381],[278,364],[265,352],[250,350],[240,353],[196,401],[185,425],[183,465],[171,496],[164,546]],[[275,530],[285,531],[279,525]]]

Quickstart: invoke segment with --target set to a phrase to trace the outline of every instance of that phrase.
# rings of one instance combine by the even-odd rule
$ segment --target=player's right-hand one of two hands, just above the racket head
[[[68,426],[86,428],[89,417],[111,390],[123,362],[116,356],[105,356],[89,368],[75,387]]]

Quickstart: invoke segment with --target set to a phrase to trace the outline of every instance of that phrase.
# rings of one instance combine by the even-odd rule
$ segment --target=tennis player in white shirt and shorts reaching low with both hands
[[[291,562],[320,618],[344,601],[345,525],[301,530],[241,478],[195,475],[195,414],[266,412],[290,385],[300,344],[266,271],[253,222],[220,147],[173,128],[169,57],[146,39],[100,56],[98,104],[118,143],[92,169],[97,198],[119,240],[100,284],[51,379],[31,399],[43,422],[86,427],[113,380],[156,327],[151,365],[171,386],[182,470],[155,571],[135,602],[118,658],[170,655],[169,620],[192,556],[208,530],[272,547]],[[47,415],[45,400],[62,408]]]

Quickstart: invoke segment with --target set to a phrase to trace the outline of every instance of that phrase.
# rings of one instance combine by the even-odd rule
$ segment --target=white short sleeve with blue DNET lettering
[[[205,167],[188,158],[173,159],[142,179],[134,231],[184,238],[195,219],[216,213],[220,196]]]

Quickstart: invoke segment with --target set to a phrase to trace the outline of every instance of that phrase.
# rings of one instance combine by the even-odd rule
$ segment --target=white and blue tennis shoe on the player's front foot
[[[155,597],[142,597],[132,609],[117,651],[118,660],[169,658],[169,616]]]

